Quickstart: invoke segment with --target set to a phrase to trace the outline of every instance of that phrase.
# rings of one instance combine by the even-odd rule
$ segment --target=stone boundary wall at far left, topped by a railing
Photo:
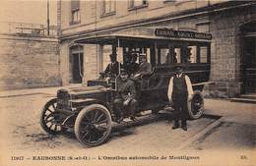
[[[0,35],[0,89],[60,85],[57,38]]]

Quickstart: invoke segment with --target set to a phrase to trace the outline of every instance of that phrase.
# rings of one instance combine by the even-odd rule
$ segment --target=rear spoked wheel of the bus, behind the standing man
[[[204,97],[200,90],[195,90],[191,101],[188,102],[190,119],[198,119],[204,112]]]

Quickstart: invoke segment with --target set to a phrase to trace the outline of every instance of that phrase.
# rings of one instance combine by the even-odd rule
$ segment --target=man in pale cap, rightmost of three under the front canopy
[[[152,73],[152,65],[147,62],[145,54],[141,54],[139,57],[139,68],[134,75],[134,79],[142,78],[144,75],[150,75]]]

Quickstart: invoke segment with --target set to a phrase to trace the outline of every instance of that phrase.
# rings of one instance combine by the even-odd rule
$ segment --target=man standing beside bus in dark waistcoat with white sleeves
[[[174,68],[175,74],[169,80],[168,99],[174,108],[174,125],[173,130],[180,127],[187,131],[188,108],[187,101],[191,100],[193,94],[192,84],[188,76],[183,74],[183,66],[178,65]]]

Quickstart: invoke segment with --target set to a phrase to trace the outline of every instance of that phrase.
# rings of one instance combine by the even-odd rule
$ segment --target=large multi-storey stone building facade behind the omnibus
[[[233,97],[255,92],[255,9],[253,1],[59,0],[62,83],[87,83],[109,62],[110,45],[76,41],[171,28],[212,34],[210,81],[214,84],[205,87],[207,95]]]

